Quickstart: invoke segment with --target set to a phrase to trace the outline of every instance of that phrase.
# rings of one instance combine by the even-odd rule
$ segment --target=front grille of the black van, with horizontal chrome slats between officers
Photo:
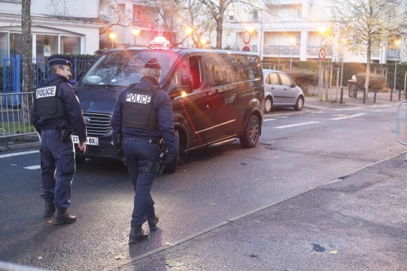
[[[112,134],[112,125],[110,125],[111,114],[84,112],[84,118],[88,137]]]

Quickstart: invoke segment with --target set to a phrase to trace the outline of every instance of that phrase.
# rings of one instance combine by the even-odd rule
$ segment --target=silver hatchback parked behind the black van
[[[288,74],[273,69],[263,69],[265,78],[265,112],[273,107],[293,106],[300,111],[304,106],[305,96],[302,89],[295,84]]]

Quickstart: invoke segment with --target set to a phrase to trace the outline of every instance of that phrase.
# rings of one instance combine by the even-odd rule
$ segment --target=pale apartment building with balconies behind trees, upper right
[[[225,14],[222,43],[234,50],[257,52],[266,62],[319,60],[323,48],[326,60],[366,63],[366,56],[338,45],[335,36],[326,31],[332,27],[332,3],[331,0],[273,0],[260,8],[234,4]],[[260,1],[256,5],[261,5]],[[399,48],[373,48],[371,60],[406,61],[405,44],[403,39]]]

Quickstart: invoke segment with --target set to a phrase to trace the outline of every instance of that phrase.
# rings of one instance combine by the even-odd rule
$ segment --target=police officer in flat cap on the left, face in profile
[[[44,217],[56,214],[53,224],[74,223],[69,214],[71,186],[75,174],[75,150],[71,134],[79,137],[86,151],[86,124],[76,90],[69,84],[72,60],[62,55],[48,58],[51,75],[34,92],[31,120],[41,134],[41,179],[45,200]]]

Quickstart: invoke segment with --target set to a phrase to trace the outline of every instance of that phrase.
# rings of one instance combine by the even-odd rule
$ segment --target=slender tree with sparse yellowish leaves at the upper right
[[[365,94],[368,95],[372,48],[401,33],[401,0],[335,0],[333,15],[349,50],[366,55]],[[385,44],[387,46],[387,44]]]

